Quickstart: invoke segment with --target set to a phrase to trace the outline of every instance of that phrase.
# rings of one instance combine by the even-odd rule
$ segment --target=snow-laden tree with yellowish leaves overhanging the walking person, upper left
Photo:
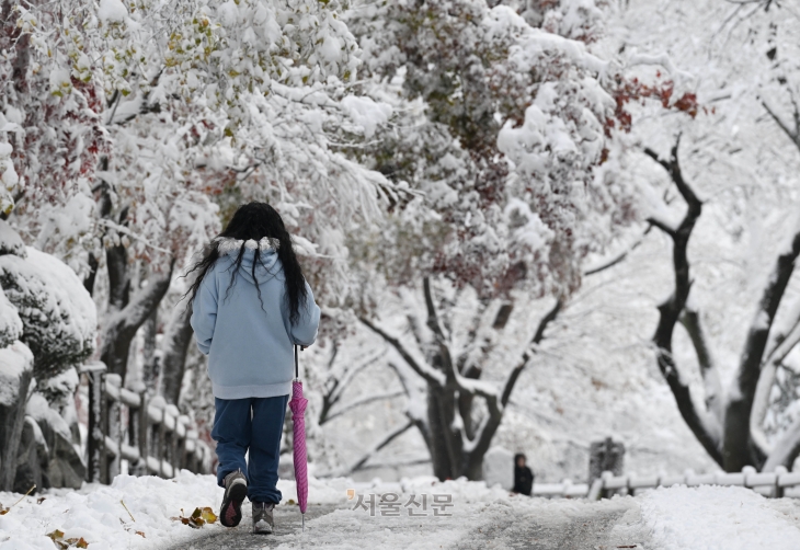
[[[358,61],[344,8],[3,3],[7,214],[84,277],[103,306],[100,355],[112,371],[125,376],[135,334],[176,298],[174,276],[240,202],[284,214],[321,297],[347,284],[342,227],[379,216],[393,192],[331,147],[379,123],[347,101]],[[59,117],[53,131],[45,115]],[[169,326],[165,366],[180,379],[187,317]]]

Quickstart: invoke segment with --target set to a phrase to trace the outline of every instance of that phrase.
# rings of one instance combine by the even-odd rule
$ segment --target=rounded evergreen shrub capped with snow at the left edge
[[[96,309],[64,262],[32,248],[25,252],[26,257],[0,256],[0,285],[19,311],[21,340],[33,352],[34,376],[42,382],[94,352]]]

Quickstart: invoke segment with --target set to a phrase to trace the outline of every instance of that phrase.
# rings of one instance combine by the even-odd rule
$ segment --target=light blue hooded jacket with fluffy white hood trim
[[[219,238],[218,242],[219,260],[203,277],[191,318],[197,347],[208,356],[214,397],[286,396],[292,392],[295,375],[293,345],[311,345],[317,339],[320,309],[311,288],[306,283],[308,297],[300,305],[297,324],[292,325],[283,266],[276,252],[278,241]],[[242,247],[241,268],[231,285]],[[255,266],[261,300],[252,276],[256,248],[261,255]]]

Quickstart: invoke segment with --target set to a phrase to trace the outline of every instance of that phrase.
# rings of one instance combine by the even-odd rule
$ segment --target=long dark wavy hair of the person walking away
[[[292,248],[292,237],[284,226],[284,220],[281,215],[266,203],[248,203],[237,208],[233,217],[228,222],[228,227],[219,234],[219,237],[228,237],[231,239],[238,239],[247,241],[252,239],[259,242],[262,238],[268,237],[277,239],[279,245],[277,248],[277,256],[281,260],[281,264],[284,270],[284,277],[286,278],[286,300],[289,306],[289,321],[292,324],[297,324],[300,319],[300,305],[305,302],[307,298],[306,291],[306,279],[302,276],[302,270],[300,263],[297,261],[295,251]],[[230,273],[230,284],[228,290],[230,290],[236,274],[239,272],[242,265],[242,257],[244,256],[245,247],[242,247],[237,255],[236,263],[233,264]],[[206,245],[203,251],[203,257],[194,264],[188,271],[188,274],[197,272],[197,277],[192,283],[192,286],[186,291],[186,296],[191,295],[188,300],[188,307],[194,301],[194,297],[197,295],[203,277],[206,276],[208,270],[210,270],[215,262],[219,260],[219,238],[214,239],[209,244]],[[261,250],[255,248],[255,257],[253,259],[253,279],[255,279],[255,289],[259,293],[259,300],[261,300],[261,288],[259,288],[259,280],[255,278],[255,265],[261,263],[264,265],[261,259]]]

